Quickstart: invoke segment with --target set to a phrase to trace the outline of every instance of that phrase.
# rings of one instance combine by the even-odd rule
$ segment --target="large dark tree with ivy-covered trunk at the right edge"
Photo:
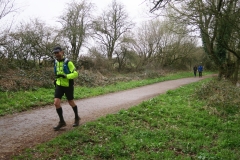
[[[160,2],[155,1],[155,2]],[[219,69],[219,78],[231,79],[239,67],[239,15],[240,2],[237,0],[187,0],[167,1],[174,11],[173,20],[188,24],[191,31],[200,33],[203,48]],[[174,2],[180,4],[175,5]],[[163,9],[161,3],[155,3],[152,11]],[[236,81],[237,77],[234,78]]]

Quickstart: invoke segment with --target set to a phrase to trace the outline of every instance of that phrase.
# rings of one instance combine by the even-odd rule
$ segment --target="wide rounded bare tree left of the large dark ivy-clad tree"
[[[170,21],[158,19],[142,24],[135,45],[141,59],[139,66],[176,65],[191,56],[191,52],[196,49],[196,40],[186,33],[186,26],[179,26],[177,30],[173,27]]]

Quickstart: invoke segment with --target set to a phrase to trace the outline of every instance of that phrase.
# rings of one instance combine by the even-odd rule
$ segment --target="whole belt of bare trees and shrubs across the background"
[[[138,72],[172,68],[218,69],[219,78],[238,81],[240,58],[237,0],[158,0],[146,10],[156,18],[134,24],[125,6],[113,0],[94,15],[94,4],[71,1],[53,28],[39,19],[6,26],[0,34],[0,78],[8,70],[53,66],[51,50],[61,45],[82,70]],[[13,0],[0,2],[0,22],[16,14]]]

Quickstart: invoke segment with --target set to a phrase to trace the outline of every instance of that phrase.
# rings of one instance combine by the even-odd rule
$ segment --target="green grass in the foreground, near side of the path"
[[[13,159],[240,159],[239,114],[210,115],[201,82],[88,122]],[[239,112],[238,112],[239,113]]]

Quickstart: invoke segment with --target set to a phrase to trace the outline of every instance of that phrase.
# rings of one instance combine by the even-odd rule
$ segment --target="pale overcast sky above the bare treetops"
[[[80,0],[76,0],[80,2]],[[131,19],[134,22],[146,20],[146,12],[149,10],[145,0],[118,0],[125,7]],[[29,19],[39,18],[49,25],[56,23],[63,10],[66,8],[66,3],[70,0],[16,0],[17,6],[20,6],[21,11],[15,17],[15,24],[24,21],[28,22]],[[87,2],[94,3],[99,11],[106,9],[111,4],[112,0],[87,0]]]

